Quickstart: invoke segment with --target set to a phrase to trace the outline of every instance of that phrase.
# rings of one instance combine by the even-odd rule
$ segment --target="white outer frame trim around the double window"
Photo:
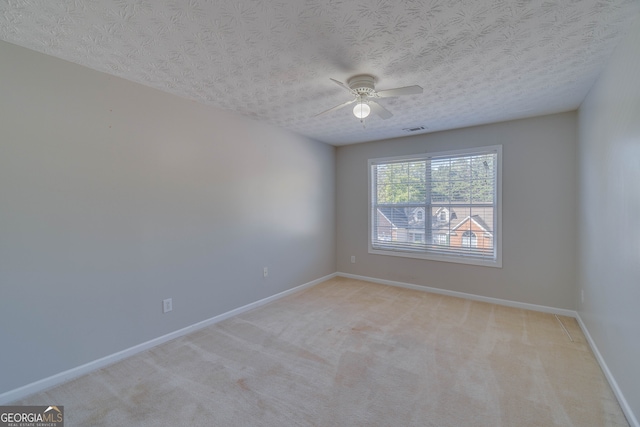
[[[472,155],[480,155],[480,154],[496,154],[496,186],[495,186],[495,195],[494,195],[494,215],[493,215],[493,246],[494,246],[494,254],[493,259],[487,258],[475,258],[475,257],[467,257],[461,255],[448,255],[443,253],[438,253],[436,248],[431,249],[412,249],[412,248],[381,248],[374,247],[373,237],[375,232],[375,219],[373,216],[375,215],[375,201],[374,201],[374,192],[375,189],[375,178],[373,173],[373,166],[384,164],[384,163],[392,163],[392,162],[410,162],[410,161],[420,161],[420,160],[432,160],[437,158],[446,158],[446,157],[456,157],[456,156],[472,156]],[[471,265],[481,265],[487,267],[497,267],[502,268],[502,145],[492,145],[485,147],[475,147],[469,149],[461,149],[461,150],[451,150],[451,151],[443,151],[443,152],[433,152],[433,153],[420,153],[415,155],[407,155],[407,156],[395,156],[395,157],[384,157],[384,158],[376,158],[369,159],[368,161],[368,247],[370,254],[376,255],[388,255],[388,256],[397,256],[397,257],[406,257],[406,258],[418,258],[418,259],[427,259],[433,261],[444,261],[444,262],[453,262],[453,263],[461,263],[461,264],[471,264]],[[431,218],[430,204],[425,203],[425,220],[429,220]]]

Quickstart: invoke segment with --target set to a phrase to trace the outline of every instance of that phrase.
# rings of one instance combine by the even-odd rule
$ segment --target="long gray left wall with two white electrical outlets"
[[[0,393],[336,271],[334,147],[4,42],[0,76]]]

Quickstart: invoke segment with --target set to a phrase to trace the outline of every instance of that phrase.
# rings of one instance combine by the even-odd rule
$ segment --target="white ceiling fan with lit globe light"
[[[350,101],[347,101],[340,105],[336,105],[333,108],[329,108],[326,111],[318,113],[314,117],[328,114],[344,108],[348,105],[355,104],[355,106],[353,107],[353,115],[359,118],[360,121],[368,117],[372,111],[381,118],[388,119],[389,117],[393,116],[393,114],[391,114],[391,111],[378,104],[375,101],[376,98],[391,98],[395,96],[415,95],[422,93],[422,88],[415,85],[376,91],[374,84],[375,79],[369,74],[359,74],[357,76],[353,76],[349,80],[347,80],[347,84],[339,82],[335,79],[330,80],[336,83],[338,86],[341,86],[348,90],[354,98]]]

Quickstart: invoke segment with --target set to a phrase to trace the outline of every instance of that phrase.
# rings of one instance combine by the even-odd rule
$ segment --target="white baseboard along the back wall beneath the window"
[[[522,308],[522,309],[525,309],[525,310],[541,311],[543,313],[557,314],[559,316],[576,317],[578,315],[578,313],[576,311],[567,310],[567,309],[564,309],[564,308],[547,307],[547,306],[544,306],[544,305],[528,304],[528,303],[524,303],[524,302],[510,301],[510,300],[504,300],[504,299],[500,299],[500,298],[484,297],[484,296],[481,296],[481,295],[467,294],[467,293],[464,293],[464,292],[449,291],[447,289],[439,289],[439,288],[431,288],[429,286],[414,285],[412,283],[395,282],[395,281],[392,281],[392,280],[376,279],[374,277],[358,276],[358,275],[355,275],[355,274],[348,274],[348,273],[340,273],[340,272],[338,272],[336,275],[339,276],[339,277],[347,277],[347,278],[350,278],[350,279],[364,280],[364,281],[373,282],[373,283],[380,283],[381,285],[397,286],[397,287],[400,287],[400,288],[414,289],[414,290],[417,290],[417,291],[431,292],[431,293],[440,294],[440,295],[448,295],[448,296],[451,296],[451,297],[464,298],[464,299],[469,299],[469,300],[473,300],[473,301],[488,302],[488,303],[491,303],[491,304],[504,305],[504,306],[507,306],[507,307],[515,307],[515,308]]]

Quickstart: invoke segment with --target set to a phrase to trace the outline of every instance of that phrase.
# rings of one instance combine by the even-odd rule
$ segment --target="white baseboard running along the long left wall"
[[[318,283],[324,282],[326,280],[332,279],[336,277],[336,273],[329,274],[327,276],[321,277],[319,279],[313,280],[311,282],[305,283],[303,285],[297,286],[295,288],[286,290],[284,292],[280,292],[278,294],[272,295],[267,298],[263,298],[259,301],[252,302],[250,304],[244,305],[242,307],[236,308],[234,310],[228,311],[226,313],[222,313],[218,316],[214,316],[210,319],[203,320],[202,322],[195,323],[193,325],[187,326],[185,328],[179,329],[177,331],[168,333],[158,338],[154,338],[142,344],[135,345],[133,347],[127,348],[125,350],[119,351],[114,354],[110,354],[108,356],[102,357],[100,359],[94,360],[92,362],[86,363],[81,366],[77,366],[75,368],[71,368],[67,371],[60,372],[58,374],[52,375],[50,377],[35,381],[31,384],[27,384],[25,386],[19,387],[14,390],[9,390],[5,393],[0,394],[0,405],[6,405],[7,403],[22,399],[31,394],[38,393],[44,390],[47,390],[51,387],[55,387],[67,381],[70,381],[74,378],[78,378],[82,375],[88,374],[90,372],[96,371],[100,368],[104,368],[105,366],[112,365],[120,360],[126,359],[127,357],[131,357],[137,353],[148,350],[150,348],[156,347],[160,344],[163,344],[167,341],[171,341],[183,335],[187,335],[191,332],[195,332],[199,329],[205,328],[207,326],[213,325],[215,323],[221,322],[230,317],[236,316],[238,314],[244,313],[246,311],[252,310],[254,308],[265,305],[269,302],[275,301],[277,299],[286,297],[295,292],[302,291],[304,289],[310,288],[311,286],[317,285]]]

